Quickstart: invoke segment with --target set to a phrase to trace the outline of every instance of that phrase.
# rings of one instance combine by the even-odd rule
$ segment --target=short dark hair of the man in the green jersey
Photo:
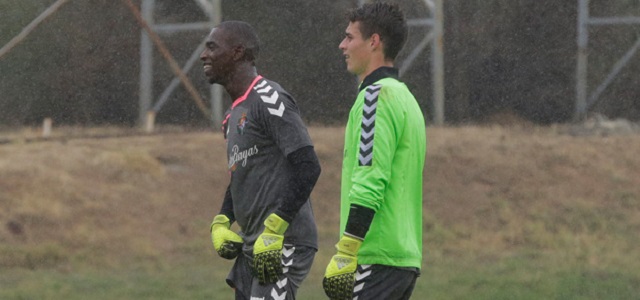
[[[396,59],[407,40],[408,27],[404,13],[395,3],[366,3],[347,13],[350,22],[360,22],[362,37],[369,38],[374,33],[384,42],[384,57]]]

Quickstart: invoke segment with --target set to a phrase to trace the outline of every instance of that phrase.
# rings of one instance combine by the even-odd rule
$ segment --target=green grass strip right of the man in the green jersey
[[[424,270],[415,299],[634,299],[637,271],[558,266],[553,259],[437,263]]]

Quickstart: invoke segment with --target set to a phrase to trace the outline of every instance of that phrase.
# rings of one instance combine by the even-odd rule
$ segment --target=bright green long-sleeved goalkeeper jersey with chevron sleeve
[[[340,235],[351,204],[376,212],[358,264],[421,268],[426,143],[422,111],[397,70],[367,76],[349,113],[341,185]]]

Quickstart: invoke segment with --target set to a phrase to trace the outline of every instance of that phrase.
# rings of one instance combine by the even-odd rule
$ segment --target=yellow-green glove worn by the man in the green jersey
[[[334,255],[327,266],[322,280],[322,287],[327,296],[332,300],[353,298],[353,286],[356,282],[356,268],[358,266],[358,249],[362,241],[343,235]]]

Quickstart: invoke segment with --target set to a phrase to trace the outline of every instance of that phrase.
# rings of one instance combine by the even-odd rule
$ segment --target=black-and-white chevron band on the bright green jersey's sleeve
[[[371,166],[373,162],[373,136],[376,131],[376,107],[378,94],[382,85],[372,85],[365,90],[364,106],[362,108],[362,129],[360,133],[360,155],[358,162],[361,166]]]

